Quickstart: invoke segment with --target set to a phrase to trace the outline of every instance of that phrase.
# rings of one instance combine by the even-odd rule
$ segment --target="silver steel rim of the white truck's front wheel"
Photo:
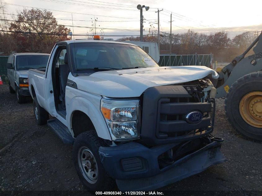
[[[78,165],[86,181],[95,184],[98,179],[98,168],[93,153],[86,146],[78,150]]]

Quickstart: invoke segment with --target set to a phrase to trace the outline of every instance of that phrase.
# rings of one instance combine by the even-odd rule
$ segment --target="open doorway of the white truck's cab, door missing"
[[[66,45],[62,45],[56,50],[52,63],[52,81],[56,111],[64,118],[66,117],[65,87],[69,72]]]

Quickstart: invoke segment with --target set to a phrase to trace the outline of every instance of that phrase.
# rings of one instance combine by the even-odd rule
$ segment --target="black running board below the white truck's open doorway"
[[[47,125],[53,129],[56,135],[63,141],[64,144],[73,144],[74,138],[69,133],[68,128],[57,119],[47,120]]]

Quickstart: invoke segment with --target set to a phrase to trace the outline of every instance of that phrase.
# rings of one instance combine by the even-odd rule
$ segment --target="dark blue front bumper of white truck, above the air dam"
[[[188,172],[191,172],[195,167],[194,161],[191,162],[193,157],[197,157],[197,159],[203,159],[202,161],[198,160],[198,162],[202,165],[207,162],[210,156],[199,156],[203,151],[218,148],[218,154],[220,153],[219,149],[221,146],[221,142],[212,142],[195,152],[184,156],[183,158],[175,161],[173,164],[160,169],[158,163],[158,156],[162,155],[167,150],[179,145],[180,143],[173,143],[173,144],[166,144],[160,146],[154,146],[152,148],[148,148],[140,143],[136,142],[129,142],[127,144],[122,144],[119,146],[110,146],[110,147],[100,147],[99,148],[99,155],[101,162],[109,174],[110,177],[114,179],[139,179],[145,177],[152,177],[157,176],[173,167],[177,167],[180,164],[183,165],[186,162],[190,162],[191,168],[188,168]],[[214,152],[212,157],[216,157],[216,153]],[[222,155],[222,154],[221,154]],[[224,157],[224,156],[223,156]],[[135,171],[125,171],[125,166],[122,165],[122,159],[140,159],[140,169]],[[216,159],[216,158],[215,158]],[[225,160],[224,160],[225,161]],[[142,163],[142,165],[141,165]],[[199,167],[202,167],[199,165]],[[175,175],[175,174],[173,174]]]

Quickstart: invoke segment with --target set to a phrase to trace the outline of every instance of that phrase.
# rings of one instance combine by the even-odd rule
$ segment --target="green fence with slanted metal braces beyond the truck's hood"
[[[160,66],[198,65],[209,67],[213,60],[213,54],[176,55],[160,54]]]

